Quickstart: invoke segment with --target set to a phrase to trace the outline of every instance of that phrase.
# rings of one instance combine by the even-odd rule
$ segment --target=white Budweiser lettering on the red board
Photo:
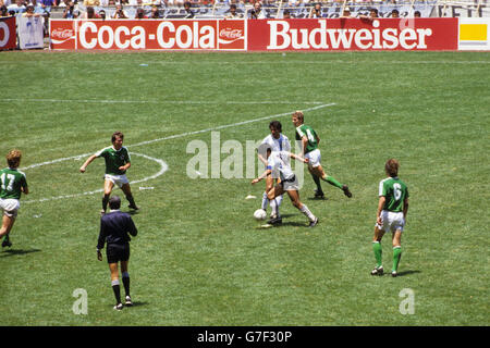
[[[430,28],[384,28],[378,29],[379,21],[372,28],[327,28],[327,21],[319,20],[320,27],[291,28],[286,21],[268,21],[270,41],[267,49],[426,49],[426,37],[432,35]]]

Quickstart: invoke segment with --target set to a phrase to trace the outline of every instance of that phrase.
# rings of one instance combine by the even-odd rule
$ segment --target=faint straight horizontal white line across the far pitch
[[[103,103],[103,104],[321,104],[321,101],[207,101],[207,100],[97,100],[97,99],[22,99],[22,98],[8,98],[0,99],[0,102],[82,102],[82,103]]]

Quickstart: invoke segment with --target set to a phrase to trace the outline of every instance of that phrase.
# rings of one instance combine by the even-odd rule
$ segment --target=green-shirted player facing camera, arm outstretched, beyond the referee
[[[126,199],[130,202],[128,208],[138,210],[139,208],[136,207],[133,194],[131,192],[130,181],[126,177],[126,171],[131,166],[131,157],[127,148],[123,146],[124,135],[121,132],[115,132],[112,135],[111,141],[112,146],[103,148],[97,153],[90,156],[81,166],[79,171],[81,173],[85,173],[88,164],[90,164],[96,158],[102,157],[106,160],[106,175],[103,182],[101,213],[106,213],[109,197],[114,185],[118,185],[126,196]]]

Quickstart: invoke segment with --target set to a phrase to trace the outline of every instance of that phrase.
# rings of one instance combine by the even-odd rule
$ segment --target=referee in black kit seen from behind
[[[109,263],[109,270],[111,271],[111,284],[112,290],[115,296],[115,310],[122,310],[123,304],[121,302],[121,291],[119,286],[119,270],[118,262],[121,262],[122,282],[124,285],[124,291],[126,294],[125,306],[132,306],[130,296],[130,273],[127,272],[127,264],[130,262],[130,240],[132,236],[136,236],[138,231],[131,219],[131,215],[121,212],[121,198],[119,196],[112,196],[109,199],[109,208],[111,212],[102,215],[100,219],[100,234],[97,244],[97,259],[102,261],[103,245],[107,241],[107,261]]]

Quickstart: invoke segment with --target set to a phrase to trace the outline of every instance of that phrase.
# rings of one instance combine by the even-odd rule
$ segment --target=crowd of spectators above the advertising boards
[[[399,0],[399,3],[406,1]],[[195,15],[229,18],[372,17],[380,4],[391,5],[384,17],[397,17],[395,0],[0,0],[0,16],[33,15],[62,18],[191,18]],[[350,8],[363,7],[353,13]],[[340,11],[333,15],[329,9]],[[212,9],[212,12],[210,11]],[[281,9],[279,11],[278,9]],[[373,11],[370,11],[373,10]],[[27,13],[27,14],[25,14]],[[169,15],[170,13],[170,15]],[[420,11],[404,16],[420,16]]]

